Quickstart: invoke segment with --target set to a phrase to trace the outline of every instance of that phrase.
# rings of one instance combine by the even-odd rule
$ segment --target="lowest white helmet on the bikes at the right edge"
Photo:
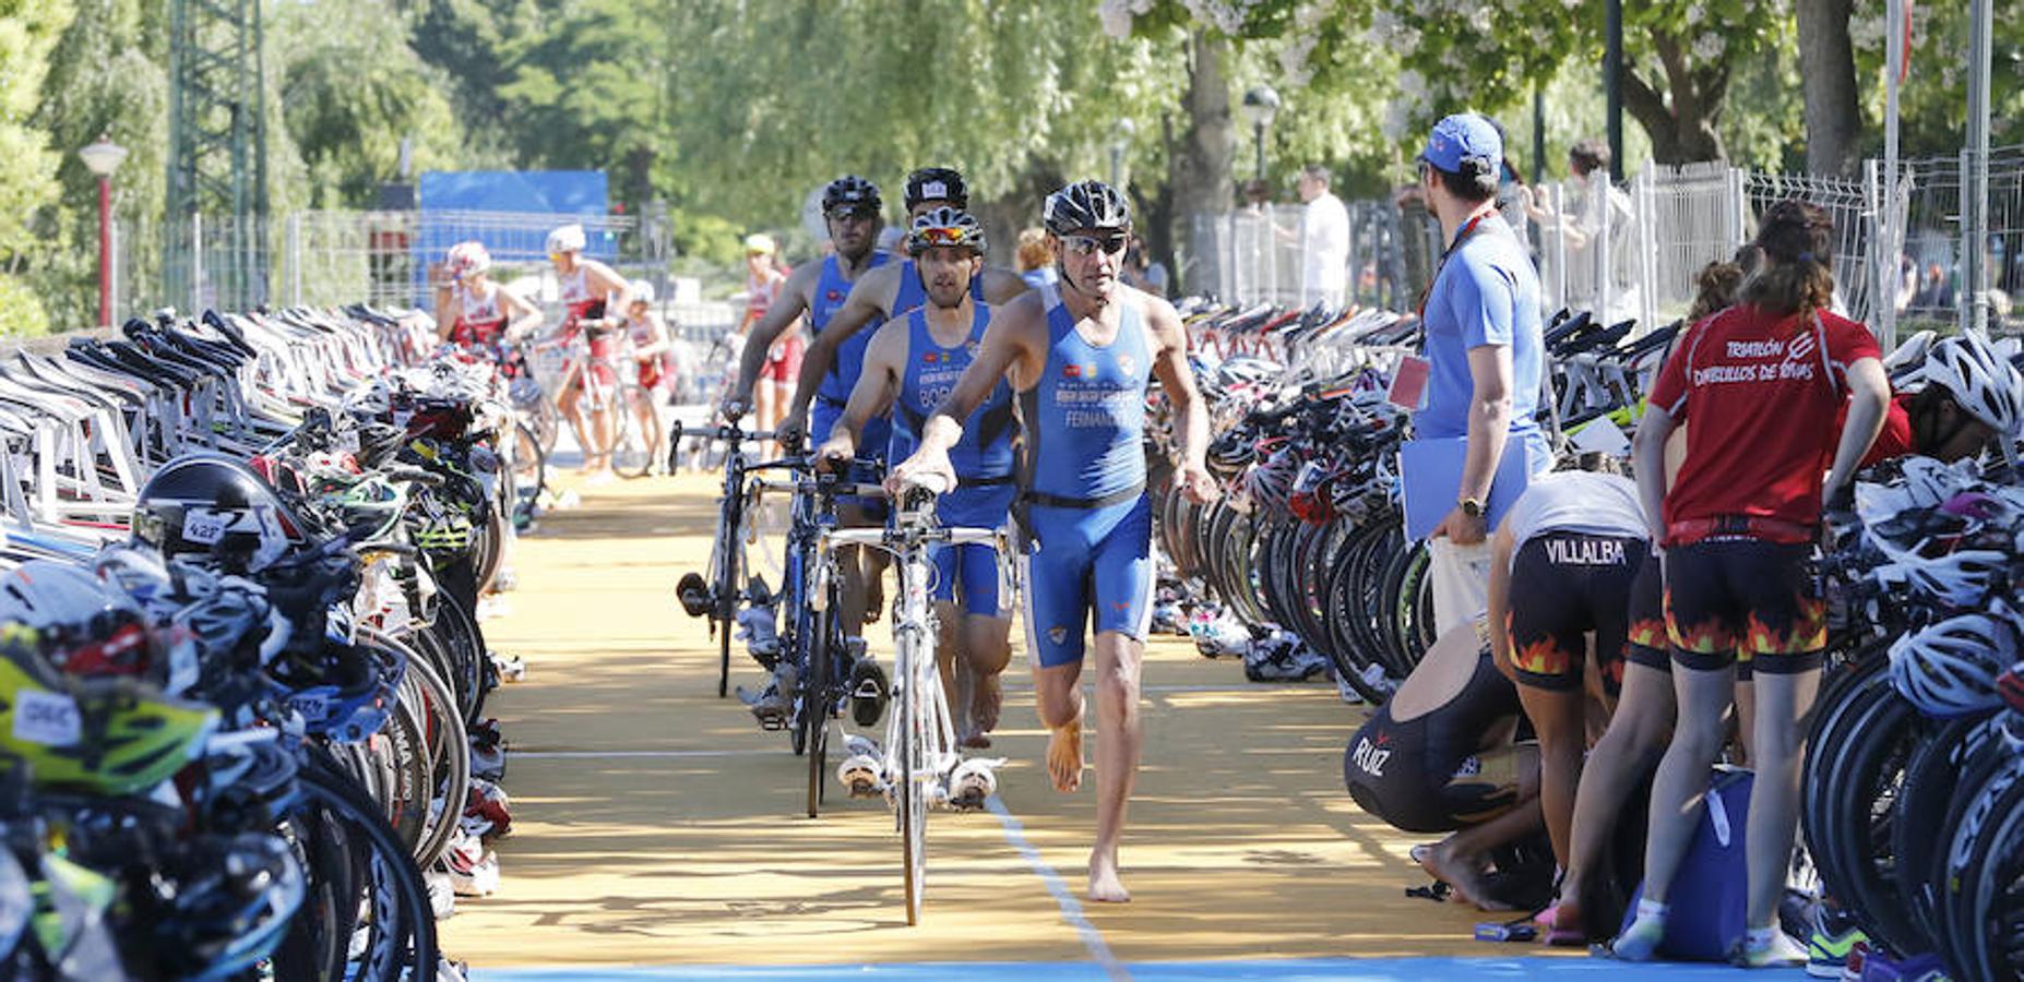
[[[1890,644],[1890,686],[1931,717],[1996,709],[1996,676],[2016,660],[2016,628],[1963,613]]]

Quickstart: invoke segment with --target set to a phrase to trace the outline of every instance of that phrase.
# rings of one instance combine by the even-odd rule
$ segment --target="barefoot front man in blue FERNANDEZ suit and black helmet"
[[[1131,211],[1109,184],[1085,180],[1046,198],[1061,288],[1040,288],[992,314],[978,356],[921,427],[921,447],[893,468],[889,488],[919,476],[955,486],[949,449],[1006,379],[1020,407],[1020,561],[1026,567],[1026,650],[1048,729],[1046,769],[1059,792],[1083,782],[1085,628],[1095,630],[1097,840],[1089,899],[1129,901],[1117,842],[1146,731],[1140,670],[1152,622],[1152,504],[1146,496],[1146,391],[1158,379],[1180,433],[1176,484],[1216,496],[1202,460],[1208,413],[1188,369],[1188,336],[1166,300],[1123,285]],[[1008,375],[1010,373],[1010,375]],[[1095,624],[1091,624],[1095,622]]]

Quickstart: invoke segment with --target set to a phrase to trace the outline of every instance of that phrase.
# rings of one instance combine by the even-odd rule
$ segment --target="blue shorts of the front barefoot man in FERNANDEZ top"
[[[1042,668],[1083,660],[1083,634],[1144,642],[1152,624],[1152,500],[1026,510],[1026,650]]]

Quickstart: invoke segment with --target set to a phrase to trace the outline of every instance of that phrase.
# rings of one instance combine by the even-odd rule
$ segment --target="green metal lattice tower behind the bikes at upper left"
[[[261,51],[261,0],[170,0],[162,285],[176,304],[249,308],[267,300]],[[219,243],[198,257],[204,225],[217,229]],[[206,267],[210,281],[202,281]]]

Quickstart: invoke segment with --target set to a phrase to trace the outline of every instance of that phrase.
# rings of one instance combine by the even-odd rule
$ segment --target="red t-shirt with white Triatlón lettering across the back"
[[[1724,514],[1816,524],[1848,366],[1880,356],[1868,328],[1828,312],[1801,320],[1739,304],[1696,324],[1652,385],[1652,405],[1692,421],[1666,524]]]

